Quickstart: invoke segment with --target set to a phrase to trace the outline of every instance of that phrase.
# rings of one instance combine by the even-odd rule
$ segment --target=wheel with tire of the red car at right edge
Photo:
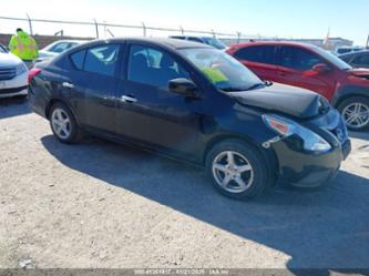
[[[369,129],[369,99],[352,96],[338,105],[347,127],[350,131],[363,131]]]

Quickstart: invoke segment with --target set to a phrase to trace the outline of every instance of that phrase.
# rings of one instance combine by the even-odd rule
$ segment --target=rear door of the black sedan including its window
[[[63,80],[79,122],[101,131],[116,131],[116,69],[119,44],[96,45],[71,55]]]

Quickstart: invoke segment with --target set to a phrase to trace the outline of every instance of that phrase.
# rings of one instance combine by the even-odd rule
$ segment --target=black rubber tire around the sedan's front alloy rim
[[[216,168],[213,167],[213,163],[222,156],[223,153],[230,151],[234,153],[238,153],[242,156],[247,159],[247,162],[249,163],[252,167],[252,173],[246,172],[248,175],[244,175],[244,178],[250,180],[250,174],[253,174],[252,182],[249,186],[245,191],[237,191],[237,192],[232,192],[226,190],[225,187],[221,186],[218,183],[219,177],[217,175],[221,174],[222,176],[222,171],[214,171]],[[240,156],[238,156],[240,157]],[[221,159],[222,161],[222,159]],[[239,162],[239,161],[238,161]],[[247,163],[246,162],[246,163]],[[237,164],[239,165],[239,164]],[[206,157],[206,175],[209,180],[212,180],[214,186],[216,190],[218,190],[222,194],[235,198],[235,200],[248,200],[255,196],[260,195],[263,192],[266,191],[266,188],[269,186],[273,181],[270,180],[270,172],[269,167],[267,164],[267,161],[264,159],[263,154],[256,147],[253,146],[249,143],[246,143],[242,140],[227,140],[224,142],[221,142],[216,144],[207,154]],[[218,173],[216,173],[218,172]],[[223,174],[224,177],[226,176],[226,173]],[[218,178],[218,181],[217,181]],[[232,180],[229,182],[229,185],[235,182]],[[247,185],[246,185],[247,186]],[[229,186],[228,186],[229,188]]]

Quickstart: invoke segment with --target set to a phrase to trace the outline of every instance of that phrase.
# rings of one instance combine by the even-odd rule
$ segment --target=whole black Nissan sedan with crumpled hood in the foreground
[[[208,45],[98,40],[40,63],[29,79],[31,108],[61,142],[89,133],[181,159],[234,198],[277,180],[317,187],[350,152],[345,122],[324,98],[263,82]]]

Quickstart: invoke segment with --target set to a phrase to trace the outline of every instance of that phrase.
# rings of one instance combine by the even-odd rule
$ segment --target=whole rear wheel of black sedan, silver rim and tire
[[[73,113],[63,103],[55,103],[50,110],[50,125],[53,134],[63,143],[75,143],[82,137]]]

